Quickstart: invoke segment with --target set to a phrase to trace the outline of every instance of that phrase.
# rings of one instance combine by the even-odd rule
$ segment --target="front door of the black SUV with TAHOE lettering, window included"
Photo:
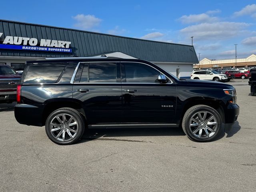
[[[143,63],[121,62],[122,123],[173,123],[176,84],[158,82],[161,73]]]

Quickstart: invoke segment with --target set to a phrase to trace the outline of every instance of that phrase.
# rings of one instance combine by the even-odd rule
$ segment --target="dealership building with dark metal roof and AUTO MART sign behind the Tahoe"
[[[0,20],[0,63],[14,68],[42,57],[102,55],[148,60],[177,76],[190,76],[198,63],[190,45]]]

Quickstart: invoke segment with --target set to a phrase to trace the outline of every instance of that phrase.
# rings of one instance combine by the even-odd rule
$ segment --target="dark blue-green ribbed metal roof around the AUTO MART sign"
[[[122,52],[134,58],[152,62],[198,63],[194,46],[184,44],[143,40],[8,20],[0,20],[0,32],[3,32],[4,36],[70,41],[72,49],[72,53],[0,49],[0,56],[88,57]]]

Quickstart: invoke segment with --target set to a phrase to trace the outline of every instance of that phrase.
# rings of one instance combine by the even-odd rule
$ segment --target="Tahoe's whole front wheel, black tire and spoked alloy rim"
[[[182,120],[184,133],[193,141],[207,142],[218,136],[222,128],[220,114],[212,107],[196,105],[189,108]]]

